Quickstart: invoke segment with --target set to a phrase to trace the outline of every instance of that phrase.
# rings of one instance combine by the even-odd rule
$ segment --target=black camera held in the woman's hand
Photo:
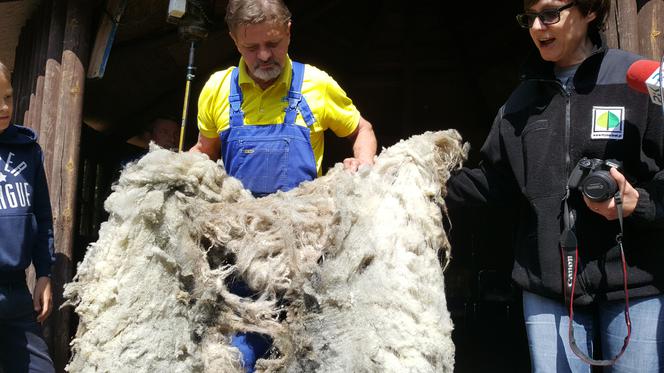
[[[572,170],[567,185],[570,189],[578,189],[591,201],[606,201],[618,191],[618,184],[609,172],[611,167],[621,170],[622,163],[615,159],[581,158]]]

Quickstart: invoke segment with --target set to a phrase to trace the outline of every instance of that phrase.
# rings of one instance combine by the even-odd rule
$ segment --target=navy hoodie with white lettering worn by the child
[[[0,133],[0,283],[23,281],[30,262],[51,275],[51,203],[37,136],[10,125]]]

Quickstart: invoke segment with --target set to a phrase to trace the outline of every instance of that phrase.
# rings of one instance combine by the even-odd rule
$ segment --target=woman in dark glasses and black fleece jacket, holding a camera
[[[517,21],[538,53],[480,167],[448,183],[452,213],[516,206],[512,277],[534,372],[664,371],[664,119],[626,84],[640,57],[606,47],[609,4],[524,0]],[[617,192],[594,198],[590,175]]]

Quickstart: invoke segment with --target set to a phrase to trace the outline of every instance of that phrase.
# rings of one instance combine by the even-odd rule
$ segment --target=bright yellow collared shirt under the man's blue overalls
[[[262,90],[249,76],[243,59],[240,59],[238,83],[242,89],[242,111],[244,122],[252,125],[281,124],[288,106],[292,68],[290,59],[281,76],[266,90]],[[229,103],[231,73],[234,67],[214,73],[203,87],[198,98],[198,130],[201,135],[214,138],[229,126]],[[331,129],[337,136],[353,133],[360,121],[360,112],[346,93],[326,72],[306,65],[302,94],[309,104],[316,121],[310,127],[311,146],[316,159],[316,170],[321,174],[324,135]],[[306,124],[298,112],[295,123]]]

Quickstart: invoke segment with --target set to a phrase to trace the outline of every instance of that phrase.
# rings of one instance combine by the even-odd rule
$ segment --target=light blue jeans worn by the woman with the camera
[[[587,356],[599,333],[602,359],[613,358],[627,335],[623,301],[574,307],[574,338]],[[523,292],[523,313],[533,372],[590,372],[570,349],[569,310],[559,301]],[[664,295],[630,299],[632,334],[625,353],[604,372],[664,372]]]

